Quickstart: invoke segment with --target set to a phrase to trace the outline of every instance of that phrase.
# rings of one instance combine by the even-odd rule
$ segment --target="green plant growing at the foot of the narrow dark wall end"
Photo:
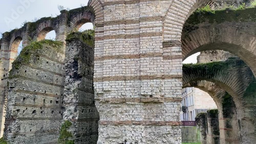
[[[70,137],[73,137],[72,133],[68,131],[68,129],[72,126],[72,123],[69,121],[65,121],[60,128],[59,132],[59,144],[74,144],[74,140],[69,140]]]

